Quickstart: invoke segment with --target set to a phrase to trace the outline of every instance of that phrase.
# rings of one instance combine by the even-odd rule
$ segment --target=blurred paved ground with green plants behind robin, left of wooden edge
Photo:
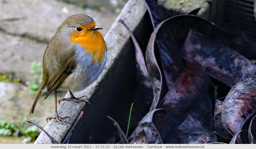
[[[91,16],[103,36],[128,0],[0,0],[0,143],[33,143],[39,130],[27,123],[42,79],[44,50],[69,16]],[[67,91],[58,93],[58,100]],[[41,96],[29,117],[42,127],[54,97]]]

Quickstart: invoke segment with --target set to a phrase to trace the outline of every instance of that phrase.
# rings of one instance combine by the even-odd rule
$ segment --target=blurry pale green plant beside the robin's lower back
[[[42,69],[42,64],[40,62],[34,61],[31,63],[30,73],[33,76],[33,80],[26,82],[26,85],[28,85],[28,92],[30,94],[36,95],[36,92],[38,91],[43,76]]]

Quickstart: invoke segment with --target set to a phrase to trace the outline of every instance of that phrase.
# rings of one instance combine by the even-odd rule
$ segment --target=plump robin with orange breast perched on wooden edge
[[[94,20],[84,14],[68,17],[57,29],[44,52],[43,79],[30,110],[34,112],[40,95],[47,91],[45,99],[54,91],[55,118],[60,123],[71,123],[59,117],[57,112],[57,90],[68,89],[69,98],[75,102],[89,103],[75,97],[72,91],[80,91],[94,82],[102,72],[107,60],[106,43]]]

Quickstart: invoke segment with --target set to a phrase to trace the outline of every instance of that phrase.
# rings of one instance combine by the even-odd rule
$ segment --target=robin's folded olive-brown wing
[[[76,67],[75,45],[66,42],[57,33],[52,38],[52,41],[58,42],[50,42],[48,44],[43,58],[43,72],[45,72],[47,89],[45,98],[52,91],[57,90]]]

